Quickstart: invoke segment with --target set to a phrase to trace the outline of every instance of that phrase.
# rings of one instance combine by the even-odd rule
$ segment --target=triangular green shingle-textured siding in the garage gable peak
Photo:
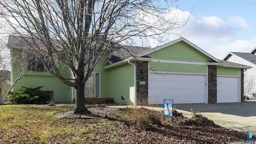
[[[184,41],[177,42],[155,52],[152,52],[146,56],[157,60],[175,60],[186,62],[206,62],[212,59],[196,50]]]

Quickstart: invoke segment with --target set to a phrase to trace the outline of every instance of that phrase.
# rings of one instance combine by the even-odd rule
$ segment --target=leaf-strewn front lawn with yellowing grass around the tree
[[[112,110],[108,116],[96,118],[53,116],[73,108],[73,104],[55,108],[0,105],[0,143],[212,144],[248,139],[246,133],[222,128],[210,120],[175,116],[173,123],[171,120],[163,121],[162,112],[154,112],[161,121],[148,128],[136,125],[136,116],[140,115],[130,109]],[[100,108],[104,109],[107,108]],[[147,114],[143,109],[137,112]]]

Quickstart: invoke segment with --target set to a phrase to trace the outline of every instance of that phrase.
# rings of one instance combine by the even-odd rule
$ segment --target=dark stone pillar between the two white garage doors
[[[217,102],[217,66],[208,66],[208,104]]]

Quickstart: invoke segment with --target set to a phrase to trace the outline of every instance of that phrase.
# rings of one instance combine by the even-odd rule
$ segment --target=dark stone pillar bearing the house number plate
[[[136,62],[136,98],[137,105],[148,104],[148,62]]]

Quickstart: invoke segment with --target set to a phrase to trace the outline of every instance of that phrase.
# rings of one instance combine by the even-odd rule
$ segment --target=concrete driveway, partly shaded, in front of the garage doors
[[[192,108],[222,127],[256,134],[256,102],[174,104],[174,106],[186,117],[192,116]]]

